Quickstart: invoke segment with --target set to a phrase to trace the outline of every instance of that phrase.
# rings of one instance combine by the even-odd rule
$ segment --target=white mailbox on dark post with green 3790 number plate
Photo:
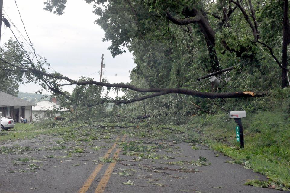
[[[240,146],[241,148],[244,148],[244,134],[243,134],[243,125],[242,125],[242,119],[241,118],[246,118],[246,111],[230,111],[229,112],[230,119],[234,119],[235,122],[238,124],[239,132],[237,132],[236,129],[236,134],[237,134],[237,141],[240,141]],[[239,140],[238,140],[238,137]]]

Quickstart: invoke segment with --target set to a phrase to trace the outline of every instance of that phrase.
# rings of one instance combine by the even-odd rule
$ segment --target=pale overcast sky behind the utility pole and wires
[[[71,79],[97,72],[89,77],[99,81],[101,55],[104,53],[106,67],[103,77],[110,83],[130,82],[129,71],[135,66],[133,56],[128,51],[115,58],[111,56],[107,50],[110,43],[102,42],[104,31],[94,24],[97,16],[92,13],[92,4],[82,0],[68,1],[65,14],[58,16],[43,10],[44,1],[17,0],[17,5],[35,50],[47,58],[56,72]],[[3,10],[4,17],[9,17],[21,34],[27,38],[15,2],[4,0]],[[18,39],[24,42],[13,25],[11,28]],[[12,36],[11,31],[2,23],[1,46]],[[38,85],[29,84],[21,85],[19,90],[31,92],[40,88]],[[70,87],[66,89],[72,91]]]

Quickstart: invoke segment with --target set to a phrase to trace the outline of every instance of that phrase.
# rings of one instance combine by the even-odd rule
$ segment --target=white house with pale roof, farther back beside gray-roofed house
[[[32,121],[39,121],[49,117],[59,117],[64,111],[69,110],[54,102],[40,101],[35,103],[35,106],[32,107]]]

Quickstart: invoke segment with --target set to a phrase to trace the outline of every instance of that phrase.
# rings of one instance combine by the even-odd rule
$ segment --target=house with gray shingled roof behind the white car
[[[19,116],[32,121],[33,102],[25,101],[21,98],[14,97],[5,92],[0,91],[0,111],[2,117],[10,117],[14,122],[19,122]]]

